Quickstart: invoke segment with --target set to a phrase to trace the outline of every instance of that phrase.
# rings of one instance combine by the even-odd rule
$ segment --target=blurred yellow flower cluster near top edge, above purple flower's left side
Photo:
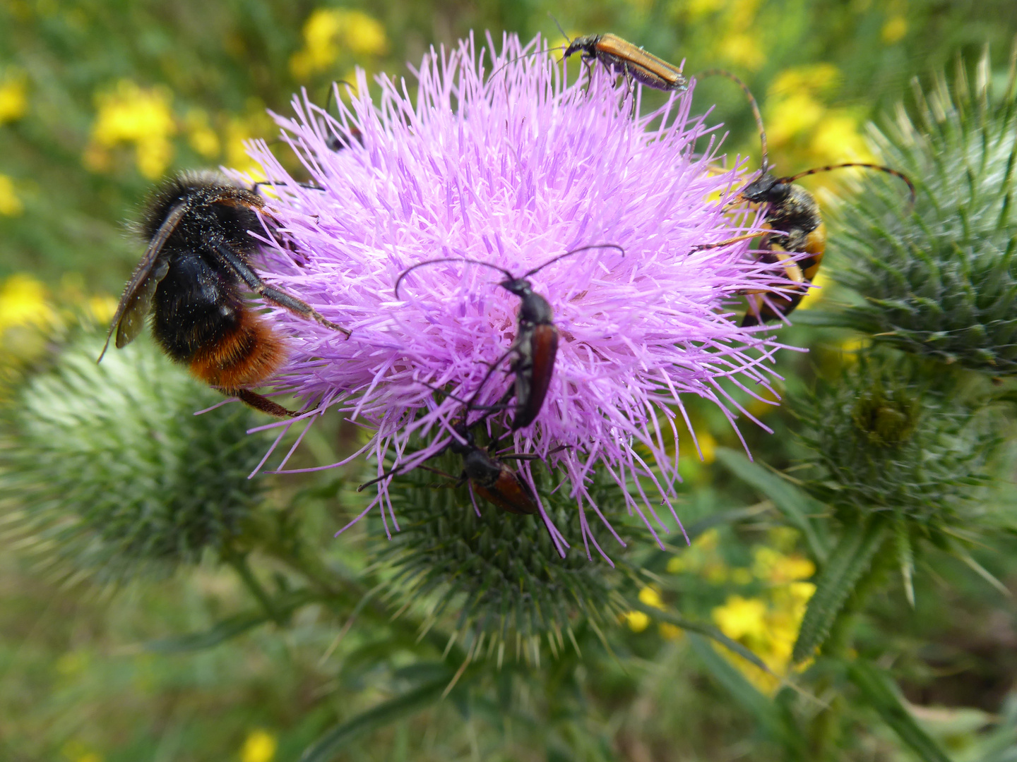
[[[359,10],[317,8],[304,23],[304,47],[290,58],[297,79],[325,71],[348,50],[357,56],[376,56],[388,49],[384,26]]]

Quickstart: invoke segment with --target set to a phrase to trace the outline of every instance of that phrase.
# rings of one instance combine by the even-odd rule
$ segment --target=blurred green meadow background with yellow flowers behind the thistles
[[[957,57],[974,61],[986,44],[992,76],[1005,79],[1017,33],[1010,0],[7,0],[0,5],[0,399],[7,415],[17,411],[12,400],[25,379],[37,379],[29,389],[45,386],[67,342],[108,320],[108,296],[140,253],[121,220],[131,219],[155,177],[217,164],[249,169],[243,140],[274,136],[265,109],[285,113],[300,87],[323,103],[328,83],[350,78],[354,66],[407,75],[407,61],[470,29],[490,29],[495,40],[502,29],[524,39],[541,31],[557,45],[548,12],[572,36],[610,30],[684,59],[687,73],[730,68],[760,99],[771,161],[787,172],[870,157],[866,120],[885,122],[901,99],[913,107],[912,76],[928,81]],[[732,146],[758,157],[755,123],[737,88],[710,79],[696,99],[704,110],[715,105],[712,118],[729,126]],[[820,182],[837,187],[835,176]],[[832,249],[836,256],[836,238]],[[805,325],[809,306],[830,300],[810,296],[796,313],[801,325],[782,334],[812,350],[781,360],[788,391],[802,391],[816,375],[858,375],[854,334]],[[162,401],[194,394],[200,406],[204,392],[178,381]],[[101,379],[94,383],[112,393]],[[930,394],[941,406],[958,404],[953,392],[891,386],[868,398],[837,387],[828,407],[850,407],[855,423],[875,421],[869,430],[883,440],[930,427],[955,436],[910,406]],[[52,410],[69,401],[58,394],[39,403]],[[881,412],[888,407],[892,426]],[[1012,440],[1012,423],[999,409]],[[412,609],[393,617],[398,597],[385,592],[399,586],[398,572],[377,563],[377,528],[358,525],[332,539],[360,510],[356,470],[262,477],[263,502],[252,506],[254,520],[230,552],[196,543],[186,549],[195,566],[158,583],[98,588],[40,568],[32,554],[4,554],[0,756],[270,762],[312,749],[318,759],[351,760],[889,760],[914,758],[902,741],[910,734],[911,750],[931,739],[929,748],[956,760],[1017,758],[1017,611],[986,582],[1017,584],[1012,525],[999,521],[972,546],[973,527],[951,514],[938,529],[953,532],[951,543],[965,549],[960,556],[950,543],[912,544],[910,525],[906,542],[892,526],[834,536],[840,527],[832,512],[795,486],[809,479],[798,470],[805,450],[791,434],[799,422],[786,409],[752,411],[776,432],[745,428],[766,466],[732,455],[740,444],[720,433],[728,430],[716,409],[691,405],[697,429],[716,436],[701,438],[705,462],[682,460],[679,512],[693,545],[634,544],[644,548],[626,557],[631,571],[616,575],[613,589],[631,610],[617,622],[583,623],[572,642],[540,649],[539,662],[508,659],[491,669],[490,658],[474,660],[478,641],[451,637],[447,621],[425,627]],[[104,415],[115,416],[88,412],[79,423],[97,428],[110,425],[99,420]],[[818,425],[832,414],[817,406],[813,415]],[[188,431],[213,426],[181,418]],[[865,457],[832,425],[827,433],[849,456]],[[70,441],[47,436],[58,446]],[[310,430],[291,466],[334,461],[358,441],[356,431],[326,421]],[[691,441],[681,446],[683,455],[693,452]],[[886,457],[866,467],[913,487],[912,472],[894,471],[893,453],[881,452]],[[1013,455],[994,463],[1004,489],[979,497],[980,508],[1009,521]],[[790,468],[790,479],[771,468]],[[65,485],[58,497],[76,499],[85,487]],[[8,517],[22,507],[9,495],[0,500]],[[907,506],[864,508],[907,514]],[[412,511],[400,515],[414,519]],[[423,544],[435,558],[453,558],[456,549],[435,547],[432,520],[407,527],[388,553],[409,558]],[[48,539],[9,518],[3,528],[19,551]],[[513,541],[504,530],[502,544]],[[575,589],[604,593],[599,575]],[[799,680],[802,669],[792,665],[792,651],[816,584],[837,593],[828,598],[836,606],[806,619],[805,631],[815,642],[829,634],[824,654],[850,643],[858,660],[839,672],[834,659],[806,663],[807,687],[791,687],[788,679]],[[709,637],[728,638],[759,663],[716,649]],[[871,662],[892,668],[911,702],[907,711],[891,686],[873,678]]]

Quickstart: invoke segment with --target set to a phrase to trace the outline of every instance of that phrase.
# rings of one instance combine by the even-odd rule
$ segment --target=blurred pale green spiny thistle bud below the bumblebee
[[[78,341],[21,390],[0,450],[7,524],[66,571],[167,573],[234,537],[259,501],[252,416],[146,340]]]

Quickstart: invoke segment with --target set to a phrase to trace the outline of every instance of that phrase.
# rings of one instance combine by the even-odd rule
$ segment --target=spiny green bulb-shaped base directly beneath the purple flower
[[[450,473],[462,468],[452,454],[431,462]],[[533,470],[550,518],[567,535],[580,536],[576,501],[563,491],[549,494],[552,478]],[[467,487],[453,489],[423,470],[398,477],[390,490],[401,530],[387,541],[380,526],[373,527],[390,598],[422,605],[430,622],[448,618],[458,637],[499,662],[506,648],[510,655],[539,659],[545,636],[557,653],[581,622],[596,627],[625,611],[615,592],[618,568],[597,558],[592,544],[592,561],[582,546],[561,558],[540,516],[505,513],[479,498],[478,516]],[[591,494],[609,505],[611,490],[617,490],[613,483]],[[594,515],[590,530],[620,564],[616,541]]]

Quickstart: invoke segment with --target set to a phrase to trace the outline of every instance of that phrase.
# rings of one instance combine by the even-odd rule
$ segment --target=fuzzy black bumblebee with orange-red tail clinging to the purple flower
[[[99,356],[116,333],[130,343],[152,313],[152,333],[197,378],[270,416],[294,416],[253,391],[286,360],[283,337],[248,303],[243,287],[266,302],[350,336],[306,302],[265,283],[251,268],[263,231],[264,199],[219,173],[184,173],[157,189],[139,229],[148,246],[134,268]]]

